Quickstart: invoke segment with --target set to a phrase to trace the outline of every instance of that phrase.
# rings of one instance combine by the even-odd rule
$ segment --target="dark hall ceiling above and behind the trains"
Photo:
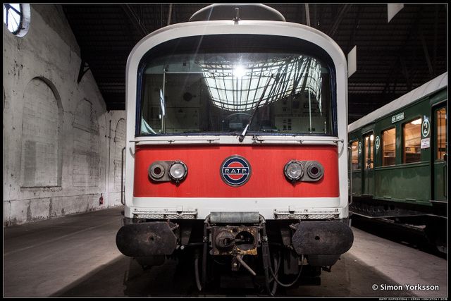
[[[125,64],[135,44],[207,5],[63,5],[82,67],[92,71],[107,109],[125,109]],[[268,6],[288,22],[306,24],[304,4]],[[390,23],[387,10],[387,4],[309,4],[311,27],[345,54],[357,45],[357,72],[348,82],[350,123],[447,71],[447,4],[404,4]]]

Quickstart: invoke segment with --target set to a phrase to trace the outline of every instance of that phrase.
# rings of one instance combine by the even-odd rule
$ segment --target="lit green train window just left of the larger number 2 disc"
[[[402,163],[421,161],[421,118],[403,126]]]

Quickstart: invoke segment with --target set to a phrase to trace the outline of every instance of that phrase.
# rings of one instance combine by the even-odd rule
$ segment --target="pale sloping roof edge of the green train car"
[[[442,75],[438,75],[438,77],[434,78],[433,80],[429,80],[425,84],[402,95],[402,97],[393,100],[393,102],[385,104],[385,106],[381,106],[381,108],[377,109],[376,111],[372,111],[371,113],[360,118],[359,120],[354,121],[353,123],[347,126],[348,133],[364,125],[367,125],[373,121],[376,121],[376,119],[381,118],[390,112],[394,112],[397,109],[401,109],[402,107],[407,106],[408,104],[412,104],[412,102],[416,102],[416,100],[421,99],[422,97],[426,97],[428,94],[431,94],[437,90],[442,89],[443,87],[446,87],[447,81],[448,81],[447,72],[443,73]]]

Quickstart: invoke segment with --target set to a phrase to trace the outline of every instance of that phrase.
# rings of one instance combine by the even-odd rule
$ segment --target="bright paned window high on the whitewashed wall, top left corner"
[[[3,20],[13,35],[23,37],[30,28],[30,4],[5,3],[3,5]]]

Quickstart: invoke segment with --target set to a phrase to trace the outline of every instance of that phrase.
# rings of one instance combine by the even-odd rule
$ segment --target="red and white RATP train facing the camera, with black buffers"
[[[123,254],[192,254],[199,290],[233,274],[273,294],[350,249],[347,62],[323,32],[207,6],[132,49],[126,110]]]

